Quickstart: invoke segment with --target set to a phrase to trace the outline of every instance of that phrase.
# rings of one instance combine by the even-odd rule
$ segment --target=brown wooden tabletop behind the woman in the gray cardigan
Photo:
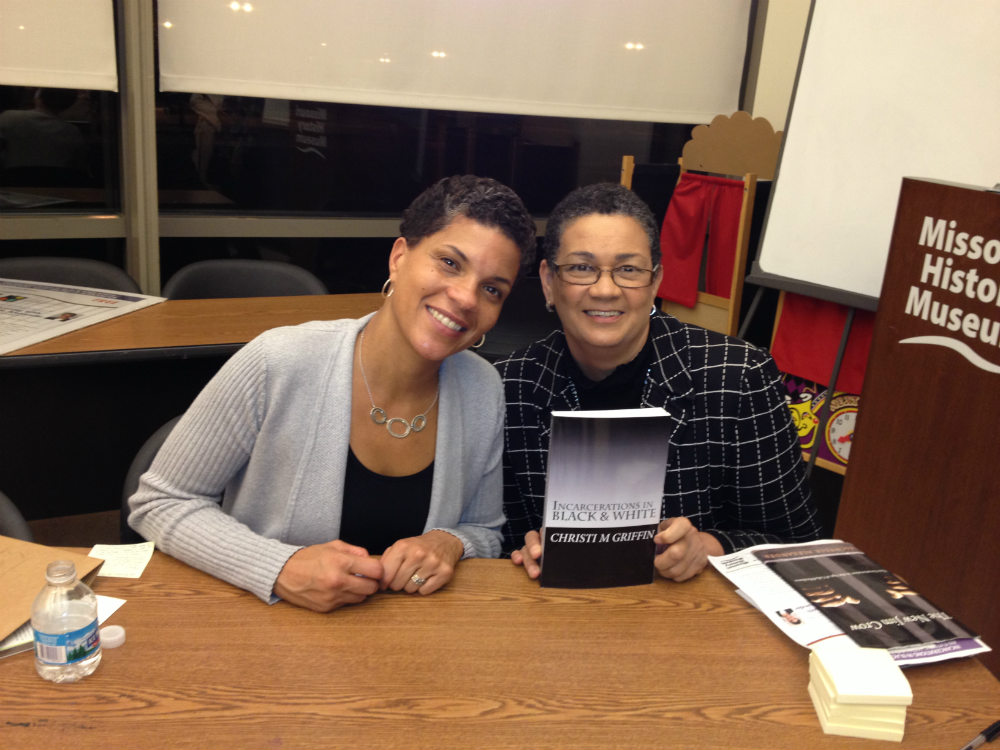
[[[269,328],[358,318],[381,304],[378,293],[166,300],[17,349],[0,367],[231,354]]]

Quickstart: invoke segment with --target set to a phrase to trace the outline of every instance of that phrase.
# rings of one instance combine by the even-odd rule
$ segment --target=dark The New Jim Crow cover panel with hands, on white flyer
[[[853,544],[787,545],[754,555],[859,646],[898,648],[978,637]]]

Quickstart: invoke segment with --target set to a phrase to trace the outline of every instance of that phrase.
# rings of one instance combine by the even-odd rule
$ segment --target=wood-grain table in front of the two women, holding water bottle
[[[2,748],[959,748],[994,721],[975,660],[907,672],[899,745],[825,735],[807,652],[714,570],[683,584],[542,589],[469,560],[428,597],[378,594],[319,615],[157,552],[127,642],[80,683],[0,661]]]

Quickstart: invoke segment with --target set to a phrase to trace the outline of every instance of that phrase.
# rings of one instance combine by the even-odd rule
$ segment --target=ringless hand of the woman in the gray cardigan
[[[316,612],[357,604],[378,591],[382,563],[339,539],[303,547],[288,558],[274,582],[286,602]]]

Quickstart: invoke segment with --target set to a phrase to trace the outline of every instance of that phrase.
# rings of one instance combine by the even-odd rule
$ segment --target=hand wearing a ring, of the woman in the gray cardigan
[[[440,529],[400,539],[382,553],[382,589],[433,594],[455,575],[464,552],[457,536]],[[414,577],[423,582],[418,585]]]

